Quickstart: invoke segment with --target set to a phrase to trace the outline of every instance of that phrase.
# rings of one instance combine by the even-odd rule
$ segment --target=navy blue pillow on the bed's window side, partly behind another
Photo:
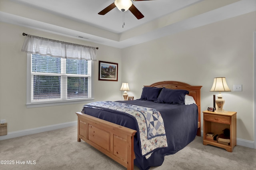
[[[143,87],[140,100],[155,101],[163,88]]]

